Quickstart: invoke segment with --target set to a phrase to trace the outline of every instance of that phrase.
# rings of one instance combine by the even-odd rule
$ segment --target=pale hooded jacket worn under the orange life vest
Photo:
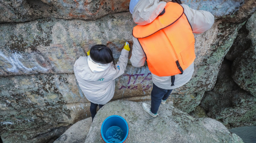
[[[132,18],[138,25],[146,25],[152,22],[152,18],[157,18],[160,12],[163,11],[165,2],[159,2],[158,0],[140,0],[135,5],[132,13]],[[210,29],[214,23],[214,16],[210,12],[204,10],[193,10],[188,5],[181,4],[185,15],[187,15],[188,21],[191,24],[193,33],[202,33]],[[158,9],[158,10],[155,10]],[[151,22],[150,22],[151,21]],[[132,66],[143,66],[146,60],[146,56],[143,49],[138,42],[138,39],[133,37],[132,57],[130,62]],[[187,69],[183,71],[183,74],[175,75],[174,86],[171,86],[171,76],[158,77],[152,74],[152,82],[162,89],[175,89],[179,88],[185,83],[188,83],[194,72],[194,63],[192,63]]]

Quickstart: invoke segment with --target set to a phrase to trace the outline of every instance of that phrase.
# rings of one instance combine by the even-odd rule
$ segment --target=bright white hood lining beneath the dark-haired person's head
[[[111,63],[107,63],[107,64],[96,63],[91,59],[90,55],[87,57],[87,62],[92,72],[105,71],[111,65]]]

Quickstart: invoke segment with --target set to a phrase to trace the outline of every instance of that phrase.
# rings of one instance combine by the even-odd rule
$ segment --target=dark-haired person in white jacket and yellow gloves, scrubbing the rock
[[[109,102],[115,93],[115,78],[124,74],[130,47],[125,43],[119,61],[115,64],[111,49],[103,44],[94,45],[87,57],[79,57],[74,63],[74,74],[80,89],[91,102],[90,112],[93,120],[96,108]]]

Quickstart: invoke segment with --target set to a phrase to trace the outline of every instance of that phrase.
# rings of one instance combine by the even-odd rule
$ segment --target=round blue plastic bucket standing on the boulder
[[[121,116],[109,116],[101,125],[101,138],[106,143],[125,142],[128,133],[129,126]]]

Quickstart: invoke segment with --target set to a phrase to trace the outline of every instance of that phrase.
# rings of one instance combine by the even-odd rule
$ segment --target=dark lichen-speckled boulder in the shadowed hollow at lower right
[[[201,106],[209,117],[219,120],[227,128],[256,125],[256,99],[243,90],[226,94],[205,92]]]

